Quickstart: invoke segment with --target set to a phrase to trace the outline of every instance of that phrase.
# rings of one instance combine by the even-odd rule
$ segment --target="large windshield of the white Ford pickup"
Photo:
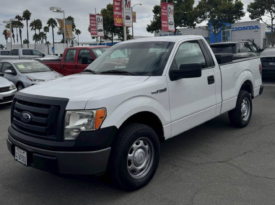
[[[87,69],[98,74],[160,76],[173,46],[172,42],[117,44],[103,53]]]

